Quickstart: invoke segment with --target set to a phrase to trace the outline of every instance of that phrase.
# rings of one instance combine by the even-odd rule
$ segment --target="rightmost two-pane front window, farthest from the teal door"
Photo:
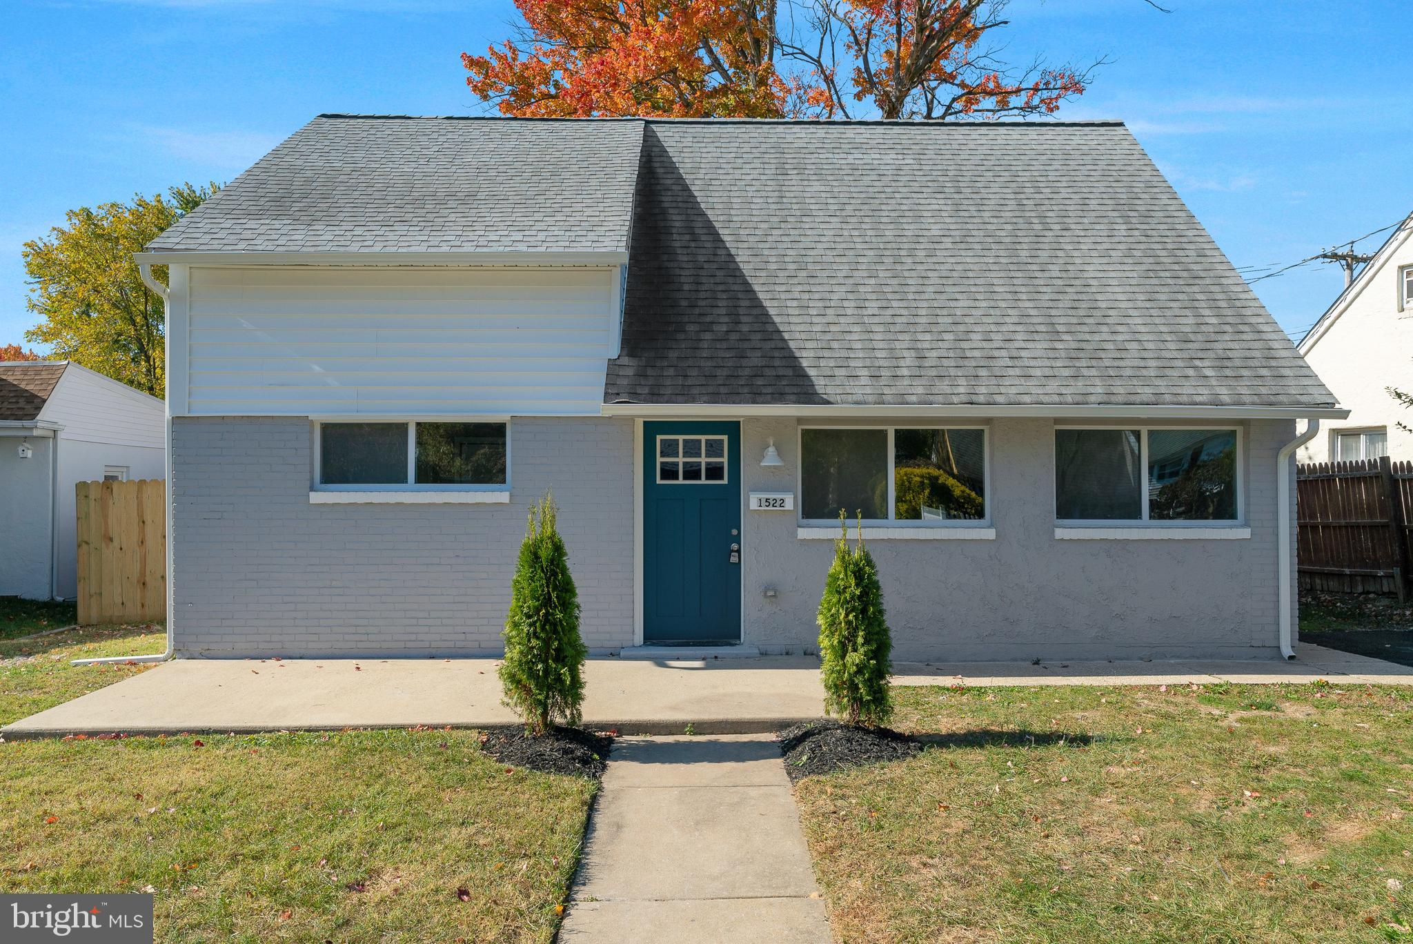
[[[1236,430],[1056,430],[1056,519],[1235,521]]]

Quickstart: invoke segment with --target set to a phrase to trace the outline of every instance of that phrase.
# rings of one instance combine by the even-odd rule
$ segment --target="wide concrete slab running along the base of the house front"
[[[486,726],[513,724],[492,659],[178,659],[0,729],[69,733]],[[894,664],[900,685],[1160,685],[1236,681],[1413,684],[1413,667],[1301,646],[1293,663]],[[818,660],[762,657],[588,664],[584,721],[623,733],[749,733],[824,714]]]

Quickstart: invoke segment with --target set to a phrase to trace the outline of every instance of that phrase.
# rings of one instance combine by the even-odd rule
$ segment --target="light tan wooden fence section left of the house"
[[[75,486],[79,622],[167,619],[167,483]]]

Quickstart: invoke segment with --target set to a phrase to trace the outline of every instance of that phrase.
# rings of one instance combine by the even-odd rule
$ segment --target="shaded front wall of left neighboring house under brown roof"
[[[0,596],[49,596],[49,449],[30,437],[34,455],[20,458],[23,437],[0,437]]]

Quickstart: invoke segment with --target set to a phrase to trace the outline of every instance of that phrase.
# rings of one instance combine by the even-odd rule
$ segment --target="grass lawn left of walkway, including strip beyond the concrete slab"
[[[146,668],[69,659],[162,643],[0,643],[0,724]],[[151,890],[170,941],[548,941],[595,790],[466,731],[0,743],[0,889]]]

